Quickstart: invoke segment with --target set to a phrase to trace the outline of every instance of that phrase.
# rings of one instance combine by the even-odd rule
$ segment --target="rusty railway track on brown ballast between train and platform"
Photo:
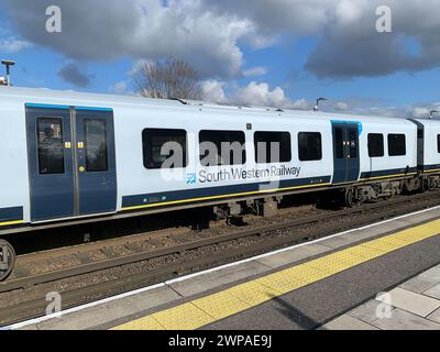
[[[169,279],[199,268],[221,265],[268,250],[331,235],[338,231],[353,228],[353,226],[369,224],[402,213],[438,206],[440,205],[439,196],[440,191],[432,191],[410,197],[396,197],[387,201],[369,204],[356,208],[320,212],[309,217],[301,217],[300,219],[286,219],[279,223],[270,223],[245,230],[238,229],[209,238],[200,238],[198,233],[189,235],[183,232],[174,237],[174,243],[158,249],[150,246],[144,250],[139,242],[132,242],[127,246],[131,248],[132,251],[128,251],[128,254],[123,255],[116,255],[116,251],[112,252],[111,242],[113,241],[114,245],[120,246],[121,241],[123,241],[123,239],[114,239],[106,242],[109,254],[107,258],[37,275],[18,276],[0,283],[0,299],[1,295],[22,295],[24,297],[26,292],[40,286],[51,286],[51,284],[61,280],[66,282],[76,277],[94,276],[106,271],[173,257],[173,261],[165,261],[163,265],[148,271],[134,272],[122,277],[116,275],[116,277],[98,282],[91,279],[91,283],[88,285],[65,289],[62,293],[63,309],[67,309]],[[158,240],[157,238],[150,238],[142,241],[157,242]],[[89,246],[94,245],[97,246],[99,243],[81,246],[81,251],[76,255],[79,257],[81,255],[85,256]],[[64,251],[66,252],[66,250]],[[206,251],[205,254],[204,251]],[[53,257],[55,252],[50,251],[46,255]],[[65,254],[67,253],[68,251]],[[112,253],[114,256],[111,255]],[[193,254],[188,255],[188,253]],[[44,253],[41,253],[36,254],[35,257],[40,256],[38,258],[42,260],[44,255]],[[20,257],[18,261],[20,262]],[[32,266],[32,260],[29,256],[25,257],[25,262]],[[45,289],[50,288],[45,287]],[[47,292],[45,289],[43,292]],[[8,324],[44,315],[46,305],[45,296],[38,297],[38,295],[33,295],[30,299],[23,298],[16,304],[1,307],[0,323]]]

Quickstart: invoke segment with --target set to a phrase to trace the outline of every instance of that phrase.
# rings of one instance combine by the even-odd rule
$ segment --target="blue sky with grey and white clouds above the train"
[[[47,30],[51,6],[59,31]],[[440,0],[0,0],[0,58],[16,61],[15,86],[135,95],[139,67],[173,56],[199,72],[207,101],[311,109],[324,97],[324,111],[419,118],[440,110],[439,10]]]

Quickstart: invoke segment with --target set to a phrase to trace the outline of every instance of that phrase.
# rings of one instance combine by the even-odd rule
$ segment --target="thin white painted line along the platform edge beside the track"
[[[233,266],[237,266],[237,265],[240,265],[240,264],[244,264],[244,263],[249,263],[249,262],[252,262],[252,261],[255,261],[255,260],[260,260],[260,258],[264,258],[264,257],[267,257],[267,256],[276,255],[278,253],[292,251],[292,250],[297,249],[297,248],[310,245],[310,244],[314,244],[314,243],[319,243],[319,242],[322,242],[322,241],[326,241],[326,240],[329,240],[329,239],[334,239],[334,238],[338,238],[338,237],[346,234],[346,233],[351,233],[351,232],[359,231],[359,230],[371,229],[371,228],[374,228],[374,227],[377,227],[377,226],[382,226],[384,223],[388,223],[388,222],[396,221],[396,220],[399,220],[399,219],[405,219],[405,218],[408,218],[408,217],[411,217],[411,216],[417,216],[417,215],[420,215],[420,213],[424,213],[424,212],[428,212],[428,211],[432,211],[432,210],[437,210],[437,209],[440,209],[440,206],[437,206],[437,207],[433,207],[433,208],[429,208],[429,209],[425,209],[425,210],[420,210],[420,211],[416,211],[416,212],[411,212],[411,213],[408,213],[408,215],[405,215],[405,216],[399,216],[397,218],[384,220],[384,221],[381,221],[381,222],[375,222],[375,223],[372,223],[372,224],[369,224],[369,226],[365,226],[365,227],[362,227],[362,228],[356,228],[356,229],[343,231],[343,232],[340,232],[340,233],[337,233],[337,234],[333,234],[333,235],[329,235],[329,237],[326,237],[326,238],[321,238],[321,239],[318,239],[318,240],[315,240],[315,241],[305,242],[305,243],[296,244],[296,245],[293,245],[293,246],[289,246],[289,248],[285,248],[285,249],[282,249],[282,250],[277,250],[277,251],[268,252],[268,253],[265,253],[265,254],[256,255],[256,256],[253,256],[253,257],[250,257],[250,258],[246,258],[246,260],[242,260],[242,261],[234,262],[234,263],[231,263],[231,264],[221,265],[221,266],[213,267],[213,268],[210,268],[210,270],[207,270],[207,271],[204,271],[204,272],[189,274],[189,275],[186,275],[186,276],[183,276],[183,277],[178,277],[178,278],[175,278],[175,279],[172,279],[172,280],[167,280],[167,282],[164,282],[164,283],[161,283],[161,284],[143,287],[143,288],[140,288],[140,289],[136,289],[136,290],[132,290],[132,292],[129,292],[129,293],[124,293],[124,294],[121,294],[121,295],[108,297],[108,298],[105,298],[105,299],[101,299],[101,300],[97,300],[97,301],[94,301],[94,302],[90,302],[90,304],[86,304],[86,305],[82,305],[82,306],[78,306],[78,307],[74,307],[74,308],[70,308],[70,309],[66,309],[66,310],[63,310],[63,311],[61,311],[58,314],[52,314],[52,315],[47,315],[47,316],[44,316],[44,317],[31,319],[31,320],[28,320],[28,321],[14,323],[14,324],[1,328],[1,330],[21,329],[21,328],[24,328],[24,327],[28,327],[28,326],[31,326],[31,324],[40,323],[40,322],[47,321],[47,320],[51,320],[51,319],[54,319],[54,318],[59,318],[59,315],[63,315],[63,316],[64,315],[69,315],[69,314],[77,312],[77,311],[80,311],[80,310],[85,310],[85,309],[88,309],[88,308],[92,308],[92,307],[96,307],[96,306],[99,306],[99,305],[103,305],[103,304],[107,304],[107,302],[110,302],[110,301],[113,301],[113,300],[131,297],[131,296],[139,295],[139,294],[142,294],[142,293],[146,293],[146,292],[155,289],[155,288],[165,287],[165,286],[172,285],[174,283],[182,283],[182,282],[185,282],[187,279],[190,279],[190,278],[194,278],[194,277],[197,277],[197,276],[206,275],[206,274],[209,274],[209,273],[215,273],[215,272],[218,272],[218,271],[221,271],[221,270],[224,270],[224,268],[233,267]]]

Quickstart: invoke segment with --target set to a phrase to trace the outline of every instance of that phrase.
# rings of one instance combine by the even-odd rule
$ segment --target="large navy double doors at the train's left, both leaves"
[[[31,220],[116,210],[111,110],[26,105]]]

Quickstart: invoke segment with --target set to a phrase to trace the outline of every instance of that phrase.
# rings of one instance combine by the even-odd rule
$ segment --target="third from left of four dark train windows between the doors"
[[[288,163],[292,161],[289,132],[255,132],[255,161],[258,164]]]

